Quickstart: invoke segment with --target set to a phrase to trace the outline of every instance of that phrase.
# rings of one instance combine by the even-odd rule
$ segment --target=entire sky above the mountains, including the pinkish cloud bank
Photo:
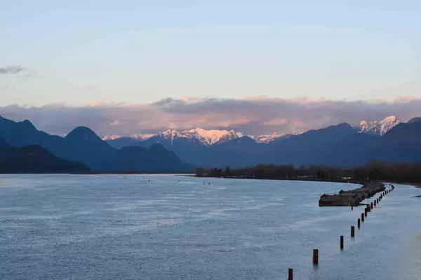
[[[420,10],[416,0],[0,0],[0,115],[53,134],[408,120],[421,99]]]

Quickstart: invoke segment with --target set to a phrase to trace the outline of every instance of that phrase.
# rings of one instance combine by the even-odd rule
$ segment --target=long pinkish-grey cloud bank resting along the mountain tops
[[[12,120],[31,120],[39,130],[67,134],[74,127],[91,127],[105,134],[187,130],[236,130],[243,134],[272,134],[318,129],[338,123],[356,125],[361,120],[382,120],[395,115],[403,121],[420,116],[421,99],[398,97],[394,101],[346,101],[326,99],[163,99],[152,104],[106,104],[41,107],[0,107],[0,115]]]

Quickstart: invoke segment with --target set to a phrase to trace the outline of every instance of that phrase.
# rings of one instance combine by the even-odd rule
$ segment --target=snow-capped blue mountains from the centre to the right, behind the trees
[[[408,123],[417,123],[416,120],[414,118]],[[354,127],[342,123],[305,133],[274,134],[273,137],[242,136],[239,132],[227,130],[167,130],[141,140],[114,137],[107,143],[115,148],[147,148],[159,143],[174,151],[183,162],[201,167],[244,167],[259,163],[354,166],[370,160],[413,162],[417,158],[404,155],[406,152],[400,155],[399,148],[394,155],[392,151],[382,151],[390,133],[402,125],[407,124],[390,116],[381,121],[363,121]],[[399,147],[399,141],[394,145]]]

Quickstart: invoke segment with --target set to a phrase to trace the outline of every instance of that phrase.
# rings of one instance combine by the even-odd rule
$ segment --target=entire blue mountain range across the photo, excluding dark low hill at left
[[[29,120],[16,123],[0,118],[0,137],[16,148],[38,145],[95,172],[189,172],[195,166],[236,168],[259,163],[354,167],[371,160],[421,162],[421,118],[401,123],[388,117],[354,127],[341,123],[276,134],[270,141],[232,130],[201,129],[104,141],[88,127],[58,137],[36,130]]]

